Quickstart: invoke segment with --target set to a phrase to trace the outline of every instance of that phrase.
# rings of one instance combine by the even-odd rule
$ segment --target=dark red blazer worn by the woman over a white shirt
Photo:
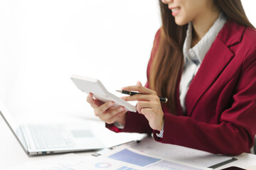
[[[159,45],[160,31],[147,69]],[[148,87],[149,84],[146,84]],[[179,86],[179,82],[178,82]],[[256,133],[256,31],[233,21],[225,26],[210,47],[186,95],[186,116],[179,103],[177,113],[163,106],[164,137],[156,137],[144,115],[127,113],[123,130],[154,133],[158,142],[201,149],[215,154],[249,152]]]

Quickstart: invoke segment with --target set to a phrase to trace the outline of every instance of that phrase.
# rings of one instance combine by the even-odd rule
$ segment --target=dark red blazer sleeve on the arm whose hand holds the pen
[[[220,115],[219,124],[164,113],[163,143],[201,149],[216,154],[249,152],[256,133],[256,46],[247,53],[233,92],[233,104]],[[206,113],[201,113],[206,114]]]

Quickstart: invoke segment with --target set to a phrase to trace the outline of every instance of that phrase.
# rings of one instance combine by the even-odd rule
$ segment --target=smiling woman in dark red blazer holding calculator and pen
[[[159,4],[162,27],[146,86],[123,88],[142,93],[124,97],[138,101],[137,113],[89,94],[95,115],[115,132],[153,132],[158,142],[216,154],[249,152],[256,133],[256,31],[240,0]]]

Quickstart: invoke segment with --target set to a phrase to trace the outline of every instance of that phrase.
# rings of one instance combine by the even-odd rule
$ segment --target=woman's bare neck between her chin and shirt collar
[[[217,20],[220,15],[220,9],[215,7],[206,11],[203,11],[201,16],[194,18],[193,24],[193,37],[192,37],[192,47],[196,45],[204,35],[208,32],[213,23]]]

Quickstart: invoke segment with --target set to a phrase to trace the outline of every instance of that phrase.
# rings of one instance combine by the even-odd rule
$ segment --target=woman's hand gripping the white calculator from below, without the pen
[[[124,110],[123,106],[115,108],[113,101],[102,103],[101,101],[93,98],[91,93],[87,96],[87,102],[90,103],[90,106],[92,106],[95,111],[95,115],[99,117],[100,120],[108,124],[118,121],[124,125],[125,113],[127,111]]]

